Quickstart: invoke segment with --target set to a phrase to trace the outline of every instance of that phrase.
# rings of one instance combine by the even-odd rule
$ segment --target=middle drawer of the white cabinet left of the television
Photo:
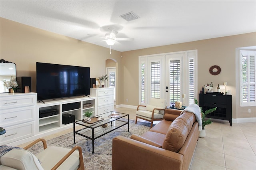
[[[34,111],[34,106],[3,110],[0,117],[1,127],[34,121]]]

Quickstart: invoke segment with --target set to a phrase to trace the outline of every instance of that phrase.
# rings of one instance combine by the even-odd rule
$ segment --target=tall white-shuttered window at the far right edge
[[[240,106],[256,106],[256,51],[240,50]]]

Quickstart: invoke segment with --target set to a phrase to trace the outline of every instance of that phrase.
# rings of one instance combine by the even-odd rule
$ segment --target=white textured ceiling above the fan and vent
[[[117,38],[112,49],[130,51],[175,43],[256,32],[256,1],[1,0],[2,18],[110,48],[102,38],[109,27]],[[126,21],[122,14],[140,18]]]

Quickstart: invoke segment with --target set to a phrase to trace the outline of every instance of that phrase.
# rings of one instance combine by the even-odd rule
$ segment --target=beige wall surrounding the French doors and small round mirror
[[[239,78],[236,77],[236,48],[254,45],[256,45],[256,32],[122,52],[124,95],[121,103],[126,105],[138,105],[139,103],[138,56],[197,49],[198,91],[211,81],[214,84],[214,91],[217,91],[218,84],[222,85],[226,81],[228,82],[226,89],[230,89],[232,94],[232,117],[256,117],[256,107],[240,107],[237,102],[239,95],[236,93],[236,89],[239,89],[239,86],[236,85],[236,79]],[[209,68],[212,65],[220,66],[221,73],[219,75],[209,73]],[[248,108],[251,108],[250,114]]]

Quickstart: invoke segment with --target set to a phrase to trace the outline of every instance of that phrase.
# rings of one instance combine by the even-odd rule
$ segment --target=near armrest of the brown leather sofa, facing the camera
[[[112,170],[181,170],[183,155],[143,142],[117,136],[113,138]]]

